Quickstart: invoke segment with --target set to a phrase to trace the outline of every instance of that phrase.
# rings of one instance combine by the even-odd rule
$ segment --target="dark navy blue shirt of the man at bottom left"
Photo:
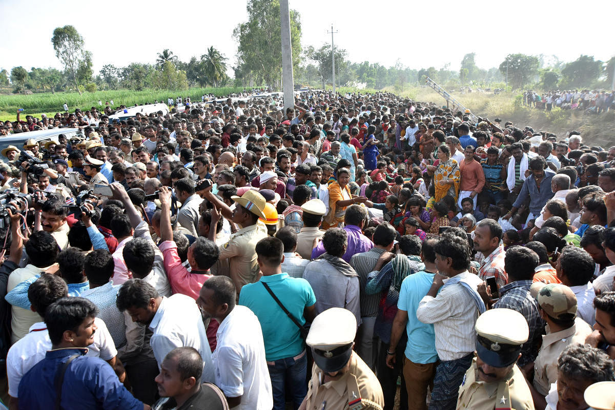
[[[137,400],[99,357],[84,356],[87,349],[48,350],[45,358],[28,371],[19,383],[19,408],[48,410],[55,408],[55,374],[72,355],[62,384],[63,409],[72,410],[142,410]]]

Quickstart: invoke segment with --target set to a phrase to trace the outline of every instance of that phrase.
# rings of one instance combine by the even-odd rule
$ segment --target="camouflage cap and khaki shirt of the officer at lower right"
[[[560,353],[573,343],[585,344],[585,337],[589,336],[593,329],[584,320],[576,317],[577,299],[568,286],[560,283],[544,285],[536,299],[541,309],[550,317],[559,320],[574,318],[573,326],[558,332],[551,332],[547,325],[547,334],[542,336],[542,346],[534,361],[533,385],[538,393],[546,396],[551,384],[557,381],[557,358]]]

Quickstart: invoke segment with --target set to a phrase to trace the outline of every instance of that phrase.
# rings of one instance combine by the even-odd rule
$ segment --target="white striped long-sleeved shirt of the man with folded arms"
[[[474,288],[483,282],[467,270],[458,276]],[[463,285],[455,283],[445,286],[435,298],[424,296],[419,302],[416,317],[423,323],[434,324],[435,350],[440,360],[457,360],[476,349],[474,325],[478,309],[474,298]]]

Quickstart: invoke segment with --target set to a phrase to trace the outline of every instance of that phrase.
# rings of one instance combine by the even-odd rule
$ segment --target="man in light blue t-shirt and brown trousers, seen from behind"
[[[387,366],[393,367],[397,344],[407,339],[411,343],[406,345],[404,352],[408,360],[403,364],[403,377],[408,391],[408,403],[416,403],[416,409],[427,409],[427,387],[433,390],[435,368],[438,362],[438,353],[435,350],[434,325],[423,323],[416,318],[416,309],[423,296],[429,292],[434,280],[435,272],[435,252],[434,245],[436,239],[427,239],[421,248],[421,259],[425,264],[425,269],[408,275],[399,291],[397,301],[397,314],[393,321],[391,330],[391,344],[387,351]],[[403,332],[403,326],[406,332]]]

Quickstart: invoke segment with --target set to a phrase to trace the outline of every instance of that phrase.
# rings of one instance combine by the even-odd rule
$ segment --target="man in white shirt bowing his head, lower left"
[[[165,298],[145,280],[130,279],[117,292],[117,309],[128,312],[133,321],[147,325],[153,332],[149,344],[158,368],[176,347],[194,347],[203,358],[201,381],[215,380],[203,318],[190,296],[176,293]]]

